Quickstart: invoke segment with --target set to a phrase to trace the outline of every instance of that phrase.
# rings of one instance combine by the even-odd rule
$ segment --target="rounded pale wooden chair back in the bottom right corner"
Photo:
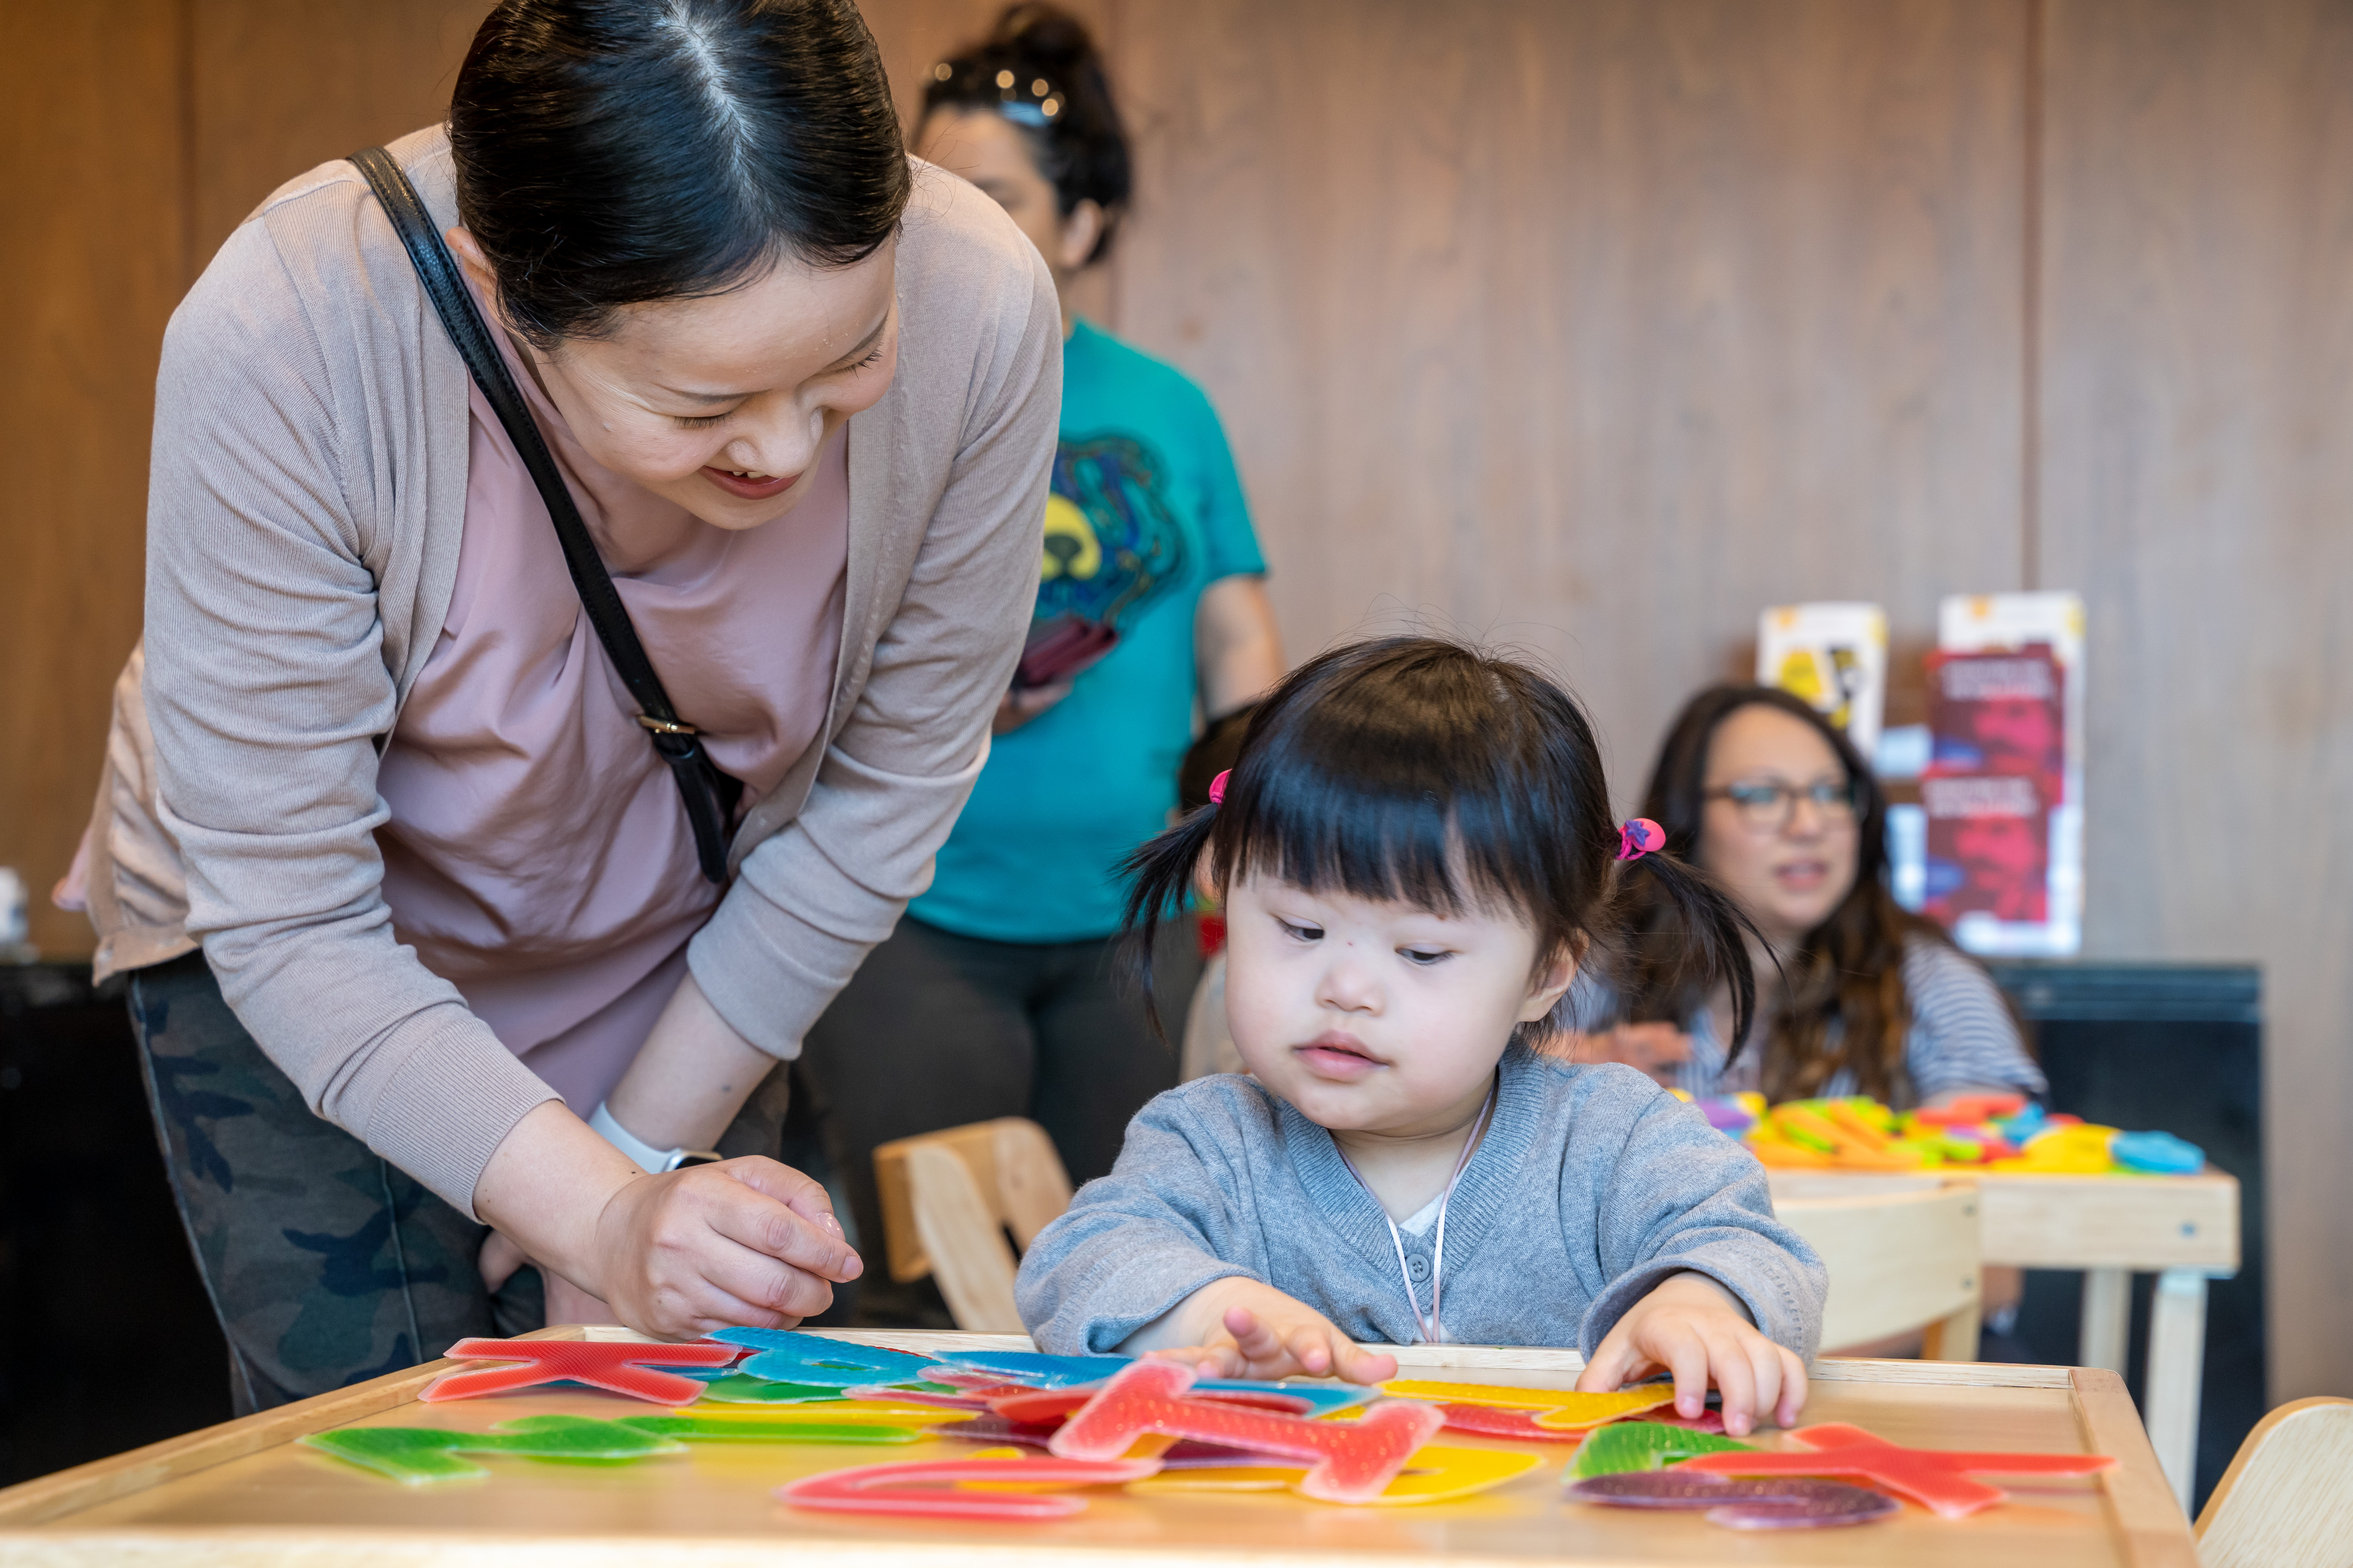
[[[2353,1568],[2353,1399],[2254,1425],[2198,1514],[2205,1568]]]

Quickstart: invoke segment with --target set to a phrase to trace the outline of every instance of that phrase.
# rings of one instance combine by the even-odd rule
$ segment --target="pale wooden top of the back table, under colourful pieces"
[[[2238,1269],[2238,1178],[2042,1175],[2035,1171],[1767,1171],[1774,1199],[1913,1192],[1974,1182],[1986,1262],[2024,1269]]]

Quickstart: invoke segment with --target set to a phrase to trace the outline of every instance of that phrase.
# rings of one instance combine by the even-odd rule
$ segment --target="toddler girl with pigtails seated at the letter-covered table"
[[[1697,1418],[1795,1420],[1824,1269],[1765,1171],[1619,1065],[1537,1056],[1631,875],[1746,1023],[1741,922],[1612,825],[1593,729],[1452,642],[1337,649],[1252,719],[1212,806],[1129,858],[1148,952],[1200,867],[1249,1077],[1174,1088],[1021,1262],[1040,1349],[1379,1382],[1353,1340],[1567,1345],[1579,1387],[1666,1368]],[[1612,863],[1612,856],[1619,865]]]

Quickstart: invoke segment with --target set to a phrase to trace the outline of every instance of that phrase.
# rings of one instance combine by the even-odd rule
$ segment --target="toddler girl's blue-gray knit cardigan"
[[[1435,1227],[1405,1237],[1428,1309]],[[1718,1279],[1805,1359],[1821,1338],[1821,1260],[1774,1220],[1765,1168],[1633,1067],[1504,1053],[1494,1126],[1447,1206],[1445,1338],[1577,1345],[1668,1274]],[[1355,1340],[1419,1335],[1381,1206],[1332,1133],[1249,1077],[1195,1079],[1127,1126],[1021,1260],[1021,1321],[1040,1349],[1104,1354],[1212,1279],[1240,1274]]]

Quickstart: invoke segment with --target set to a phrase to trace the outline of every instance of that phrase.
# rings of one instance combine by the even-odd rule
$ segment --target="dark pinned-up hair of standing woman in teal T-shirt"
[[[1104,56],[1078,16],[1035,0],[1007,5],[988,38],[932,66],[922,113],[941,108],[986,108],[1021,127],[1061,214],[1071,216],[1080,202],[1104,209],[1104,233],[1087,261],[1111,252],[1134,176]]]

